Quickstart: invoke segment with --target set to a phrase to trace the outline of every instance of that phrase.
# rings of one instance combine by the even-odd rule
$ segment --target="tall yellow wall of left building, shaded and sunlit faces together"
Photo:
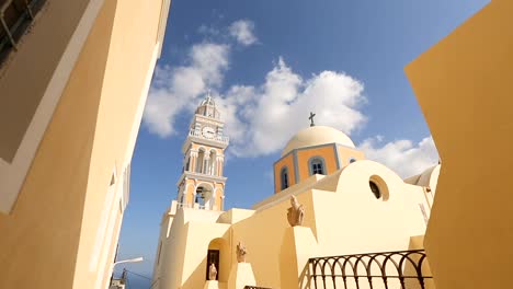
[[[110,275],[121,219],[103,240],[105,271],[89,264],[112,173],[121,180],[132,155],[161,4],[105,0],[15,207],[0,215],[0,288],[91,289]]]

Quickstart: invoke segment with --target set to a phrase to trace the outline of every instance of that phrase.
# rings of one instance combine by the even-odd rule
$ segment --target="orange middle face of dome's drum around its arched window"
[[[298,172],[298,182],[310,176],[308,161],[312,157],[321,157],[324,160],[326,174],[331,174],[338,170],[337,167],[337,154],[334,151],[333,144],[327,144],[322,147],[315,147],[309,149],[299,149],[297,150],[297,167]]]

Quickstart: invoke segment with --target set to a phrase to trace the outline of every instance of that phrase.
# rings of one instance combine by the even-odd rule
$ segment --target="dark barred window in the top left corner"
[[[44,2],[45,0],[0,0],[0,63],[12,49],[18,49],[20,38]]]

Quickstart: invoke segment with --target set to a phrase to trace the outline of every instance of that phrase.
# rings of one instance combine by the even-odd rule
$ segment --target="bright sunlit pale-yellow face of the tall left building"
[[[137,134],[149,81],[158,54],[158,28],[162,1],[116,1],[112,39],[101,91],[94,131],[82,233],[77,258],[75,288],[93,288],[95,273],[89,273],[91,241],[98,227],[99,204],[113,167],[121,174],[130,137]],[[129,32],[129,33],[128,33]],[[135,57],[137,56],[137,57]],[[87,76],[80,76],[80,79]],[[77,93],[77,92],[75,92]],[[116,97],[113,97],[115,95]],[[138,118],[136,120],[136,117]],[[136,122],[136,127],[134,127]],[[117,243],[117,235],[111,246]],[[113,258],[107,261],[111,263]]]

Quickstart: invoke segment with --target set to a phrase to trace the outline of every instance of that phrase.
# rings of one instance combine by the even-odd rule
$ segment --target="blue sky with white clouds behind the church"
[[[401,176],[437,154],[403,67],[485,0],[173,0],[132,162],[119,258],[150,276],[192,111],[212,89],[231,146],[226,206],[273,194],[272,164],[309,124],[351,136]],[[119,268],[118,268],[119,269]]]

